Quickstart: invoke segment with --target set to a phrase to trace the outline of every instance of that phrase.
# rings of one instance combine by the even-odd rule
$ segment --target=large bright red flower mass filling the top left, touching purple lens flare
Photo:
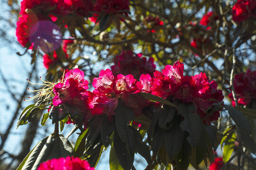
[[[42,28],[38,32],[31,31],[31,27],[38,21],[51,20],[55,22],[58,17],[73,13],[87,17],[88,12],[92,9],[91,0],[22,0],[19,13],[21,16],[18,19],[16,30],[18,42],[25,47],[32,34],[38,37],[40,36],[39,32],[45,31]]]

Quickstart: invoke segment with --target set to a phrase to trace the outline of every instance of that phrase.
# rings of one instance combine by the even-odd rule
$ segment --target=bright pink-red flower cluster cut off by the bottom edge
[[[68,156],[43,162],[37,170],[94,170],[94,168],[87,161]]]

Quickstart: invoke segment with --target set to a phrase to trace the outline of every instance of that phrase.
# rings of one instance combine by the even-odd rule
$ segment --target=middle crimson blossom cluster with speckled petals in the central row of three
[[[126,106],[134,111],[135,116],[142,114],[142,109],[148,105],[140,95],[129,95],[140,92],[141,84],[133,75],[114,76],[110,69],[101,70],[100,76],[93,79],[92,85],[95,90],[89,106],[94,115],[115,115],[119,100],[125,102]]]

